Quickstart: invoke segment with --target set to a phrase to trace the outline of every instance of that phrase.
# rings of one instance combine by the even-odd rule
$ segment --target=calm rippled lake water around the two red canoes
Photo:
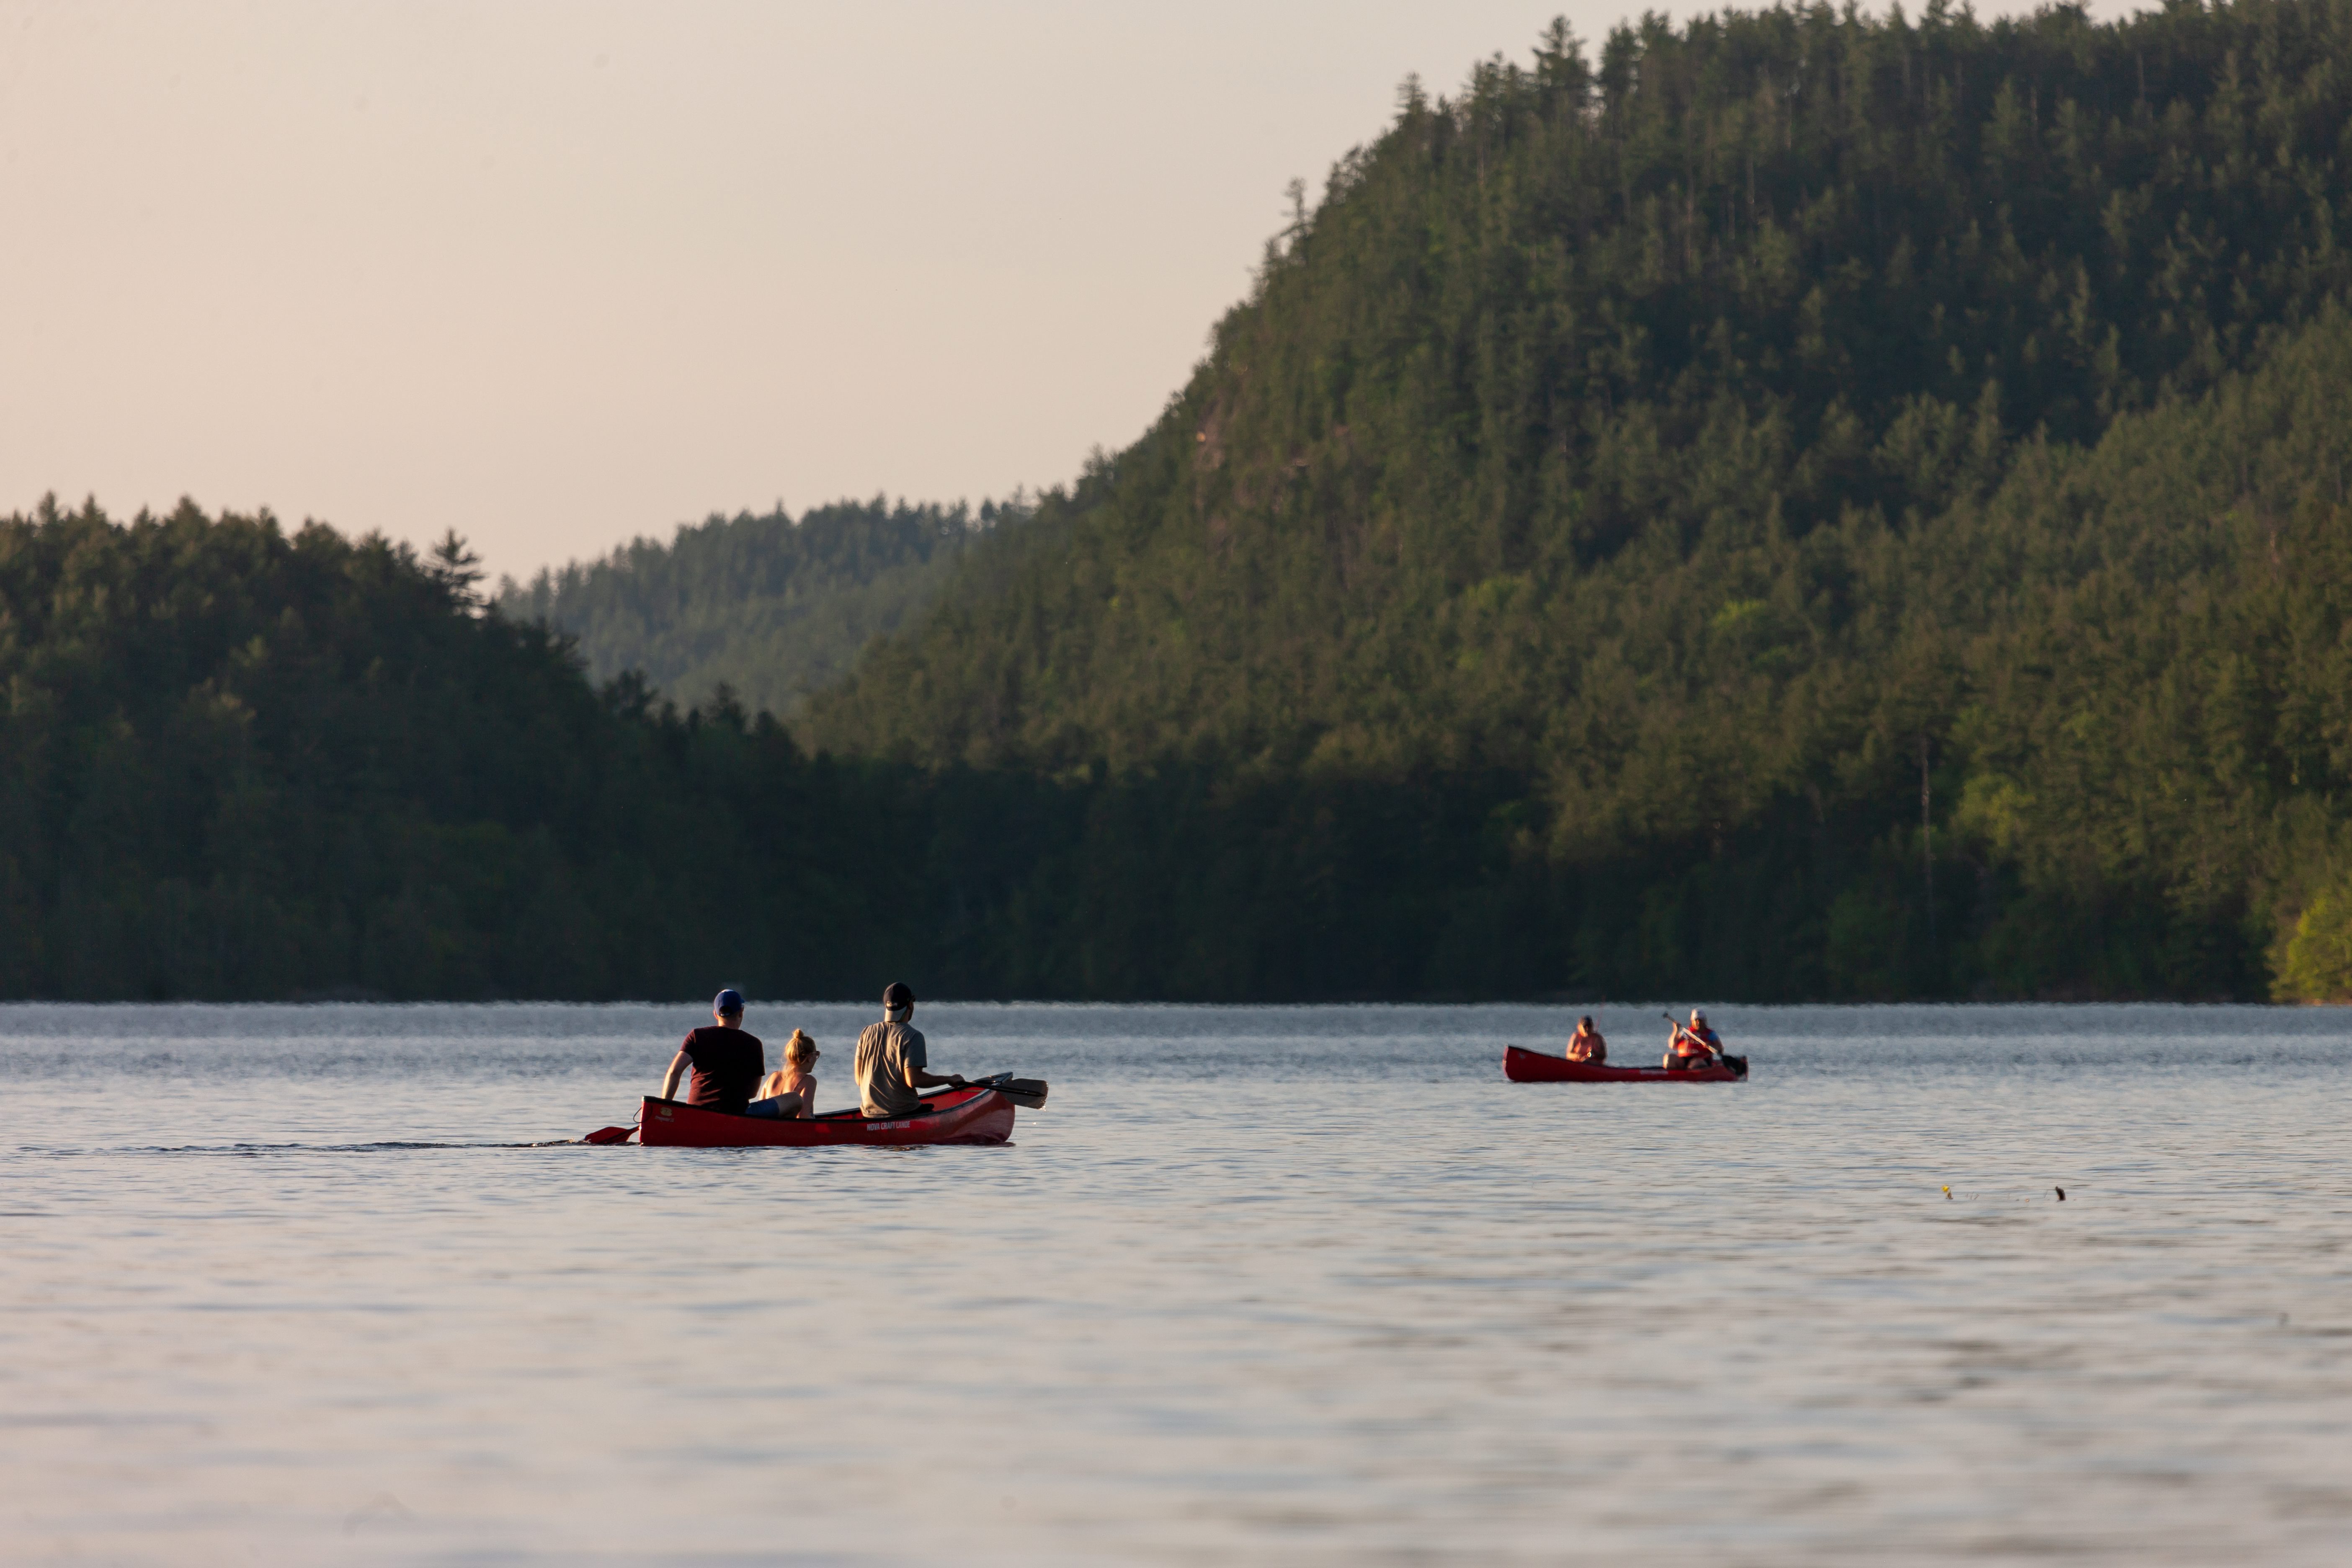
[[[522,1147],[696,1006],[5,1006],[0,1559],[2352,1561],[2352,1016],[1710,1013],[924,1006],[1011,1147],[696,1152]]]

